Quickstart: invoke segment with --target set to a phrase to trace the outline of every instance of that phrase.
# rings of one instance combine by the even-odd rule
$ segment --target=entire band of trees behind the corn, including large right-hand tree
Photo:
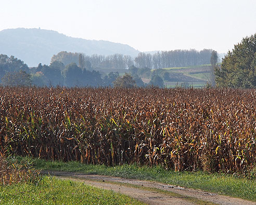
[[[210,86],[256,88],[256,34],[242,39],[218,62],[217,52],[211,49],[172,50],[156,54],[139,53],[136,58],[116,54],[111,56],[60,52],[52,57],[50,65],[29,68],[14,56],[0,55],[0,83],[2,85],[63,85],[63,86],[145,86],[141,78],[151,78],[149,84],[163,86],[161,77],[168,81],[166,67],[185,67],[211,63]],[[129,68],[120,76],[118,72],[101,74],[93,68]],[[153,72],[151,69],[155,68]],[[159,74],[161,71],[162,76]],[[130,76],[131,75],[131,76]],[[159,76],[160,75],[160,76]],[[160,77],[160,78],[159,78]],[[120,83],[122,82],[122,83]]]

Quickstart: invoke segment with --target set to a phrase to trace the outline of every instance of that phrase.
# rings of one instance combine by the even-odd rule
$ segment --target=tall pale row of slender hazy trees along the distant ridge
[[[81,53],[60,52],[52,57],[51,62],[60,61],[64,65],[75,62],[85,68],[128,69],[135,66],[137,68],[160,69],[209,64],[212,52],[212,49],[201,51],[195,49],[170,50],[157,52],[153,55],[139,53],[135,58],[122,54],[87,56]]]

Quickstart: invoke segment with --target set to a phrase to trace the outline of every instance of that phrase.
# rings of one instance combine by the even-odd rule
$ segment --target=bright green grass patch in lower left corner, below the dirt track
[[[0,204],[145,204],[131,197],[70,180],[44,176],[39,184],[0,186]]]

